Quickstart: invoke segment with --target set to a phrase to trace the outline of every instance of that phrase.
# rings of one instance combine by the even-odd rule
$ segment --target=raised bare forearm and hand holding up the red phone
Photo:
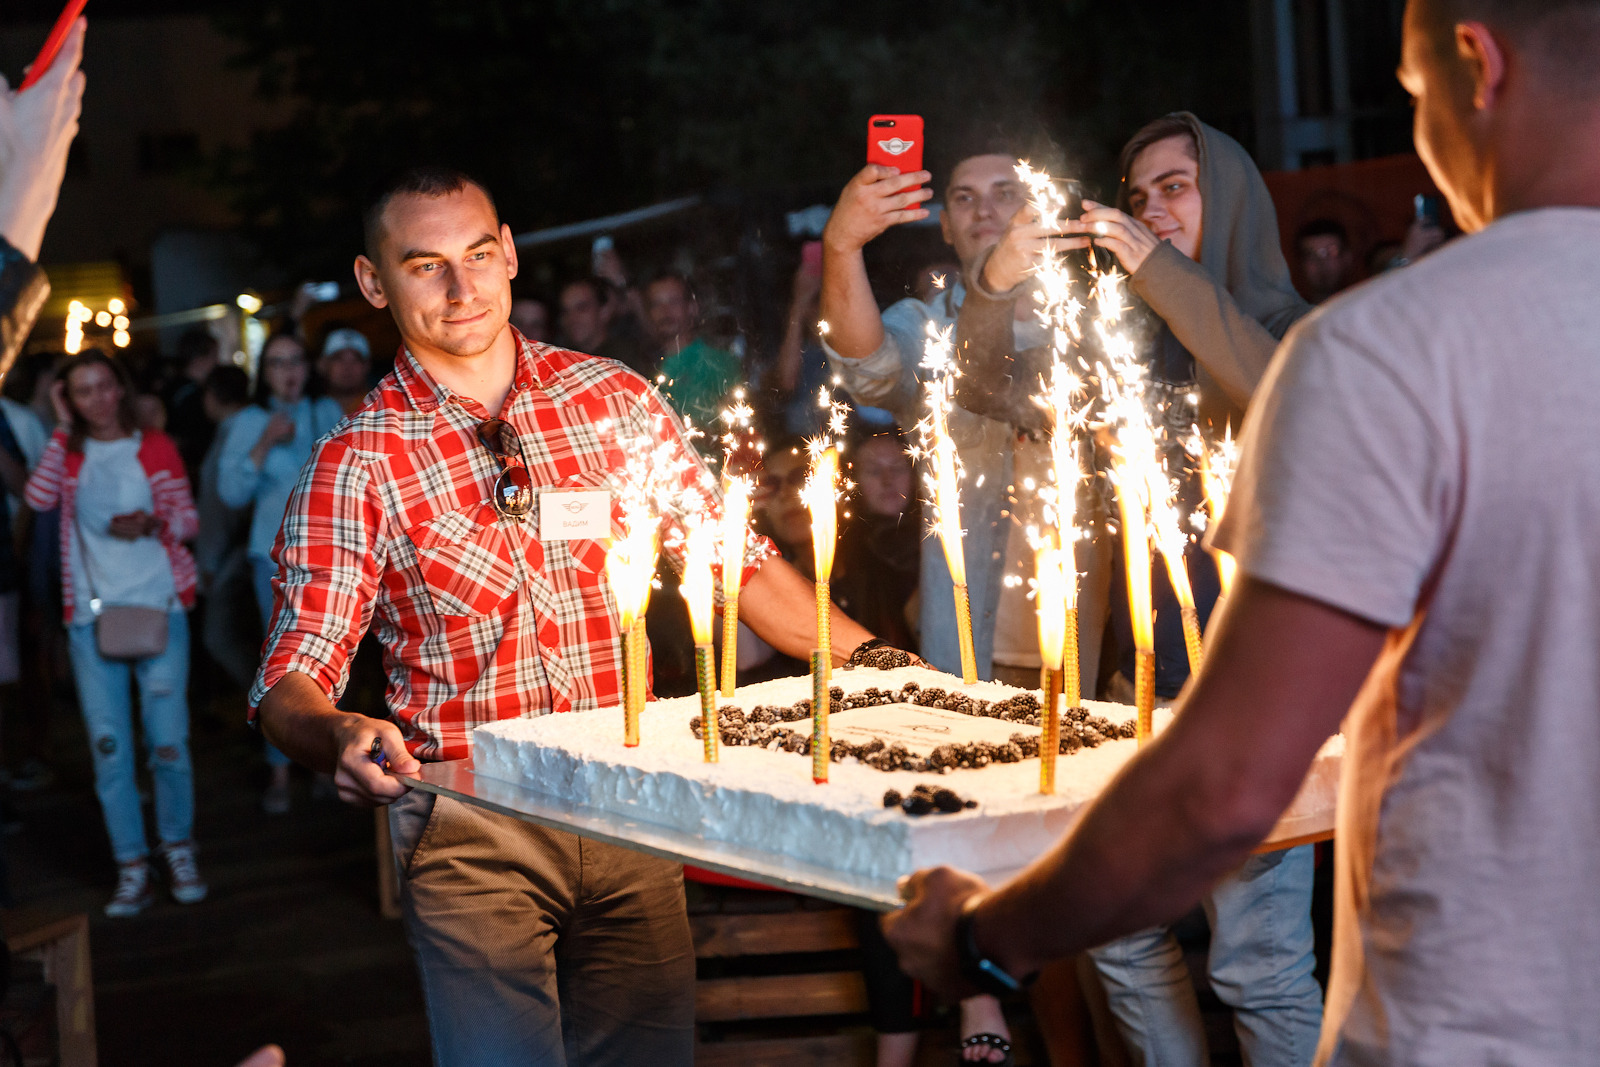
[[[901,174],[869,163],[838,194],[822,230],[821,310],[829,346],[846,360],[866,358],[883,344],[883,322],[861,250],[891,226],[928,218],[920,205],[933,195],[923,186],[931,178],[928,171]]]

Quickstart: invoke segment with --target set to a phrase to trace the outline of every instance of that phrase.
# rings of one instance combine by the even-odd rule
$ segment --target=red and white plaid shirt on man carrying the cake
[[[634,371],[515,334],[517,378],[499,418],[522,435],[544,490],[669,483],[661,544],[683,566],[683,520],[722,514],[715,475]],[[338,699],[368,625],[387,651],[389,710],[411,753],[469,753],[474,726],[614,705],[622,637],[603,541],[539,541],[538,506],[501,518],[501,467],[478,440],[488,413],[434,382],[405,350],[366,405],[318,443],[290,498],[274,555],[277,613],[251,715],[285,673]],[[746,577],[774,555],[750,534]],[[621,729],[621,726],[619,726]]]

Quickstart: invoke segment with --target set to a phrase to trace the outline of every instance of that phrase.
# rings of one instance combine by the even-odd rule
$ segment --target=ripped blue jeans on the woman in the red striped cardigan
[[[133,768],[133,681],[139,685],[144,749],[155,781],[155,829],[163,845],[187,841],[195,821],[195,776],[189,763],[189,617],[182,609],[168,613],[166,651],[149,659],[104,659],[94,645],[93,622],[67,627],[67,649],[94,753],[94,792],[117,862],[142,859],[150,851]]]

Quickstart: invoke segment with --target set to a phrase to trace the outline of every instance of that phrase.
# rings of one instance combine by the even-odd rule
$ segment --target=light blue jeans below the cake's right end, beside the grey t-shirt
[[[1322,1029],[1310,928],[1314,849],[1251,856],[1206,896],[1211,987],[1234,1009],[1248,1067],[1306,1067]],[[1133,1062],[1203,1067],[1205,1027],[1189,969],[1165,926],[1090,952]]]

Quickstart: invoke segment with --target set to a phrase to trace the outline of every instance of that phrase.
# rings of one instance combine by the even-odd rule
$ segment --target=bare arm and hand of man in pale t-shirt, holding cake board
[[[950,869],[910,877],[910,904],[885,920],[901,966],[960,989],[952,934],[974,894],[978,945],[1018,976],[1182,913],[1272,830],[1386,637],[1245,577],[1173,725],[1061,845],[994,893]],[[1040,925],[1046,912],[1064,921]]]

